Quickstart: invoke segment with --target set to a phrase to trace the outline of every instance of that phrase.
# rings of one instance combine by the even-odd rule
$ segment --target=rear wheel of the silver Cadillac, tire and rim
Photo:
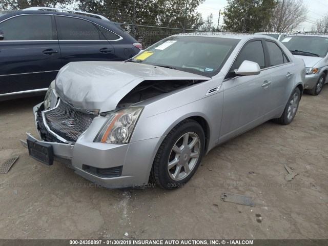
[[[301,92],[298,88],[295,88],[291,97],[288,100],[288,103],[282,115],[280,116],[280,118],[273,119],[273,121],[281,125],[291,124],[291,122],[293,121],[296,115],[300,98],[301,98]]]

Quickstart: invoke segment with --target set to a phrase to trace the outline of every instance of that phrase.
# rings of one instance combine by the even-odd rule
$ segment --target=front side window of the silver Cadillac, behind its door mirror
[[[252,41],[242,48],[237,56],[237,59],[231,66],[227,78],[236,76],[234,70],[238,69],[244,60],[254,61],[254,63],[257,63],[261,69],[265,68],[264,51],[260,40]]]

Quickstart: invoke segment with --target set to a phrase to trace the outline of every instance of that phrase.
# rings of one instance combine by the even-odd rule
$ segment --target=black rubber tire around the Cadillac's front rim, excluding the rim
[[[198,135],[200,140],[200,153],[199,158],[197,160],[196,166],[194,167],[193,171],[184,179],[176,181],[171,179],[169,172],[168,172],[168,161],[170,157],[171,150],[175,145],[176,141],[185,133],[187,132],[194,132]],[[168,136],[167,136],[168,137]],[[176,189],[181,187],[181,185],[185,184],[196,172],[203,153],[204,153],[204,145],[205,145],[205,136],[202,127],[194,120],[187,121],[179,126],[172,135],[170,135],[167,139],[167,144],[162,150],[159,160],[159,174],[160,174],[160,185],[166,189]]]

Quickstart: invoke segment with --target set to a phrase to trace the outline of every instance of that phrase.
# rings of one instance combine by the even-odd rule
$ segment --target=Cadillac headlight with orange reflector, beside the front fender
[[[131,107],[110,115],[97,134],[94,142],[127,144],[143,107]]]

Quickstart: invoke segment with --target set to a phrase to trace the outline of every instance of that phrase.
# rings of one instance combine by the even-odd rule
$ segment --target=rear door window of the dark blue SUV
[[[100,40],[100,32],[84,19],[56,16],[60,40]]]

